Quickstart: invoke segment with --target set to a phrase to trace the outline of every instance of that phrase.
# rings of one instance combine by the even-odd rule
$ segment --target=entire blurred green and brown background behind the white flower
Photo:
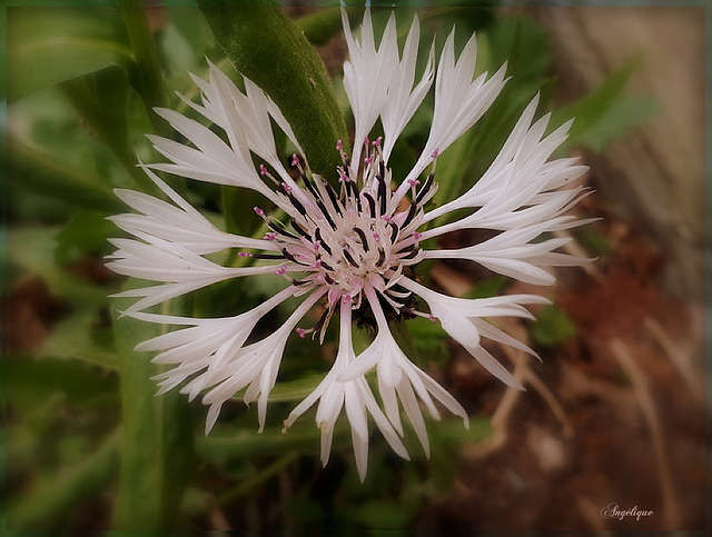
[[[125,210],[112,188],[148,188],[134,165],[137,155],[157,159],[144,133],[165,126],[151,106],[179,107],[175,91],[195,98],[187,72],[205,76],[206,56],[226,72],[229,60],[195,6],[91,3],[4,8],[9,529],[704,527],[703,8],[398,7],[403,36],[415,12],[422,20],[422,51],[434,36],[439,50],[457,24],[462,42],[478,33],[478,72],[506,60],[513,77],[482,125],[443,156],[443,190],[486,169],[538,91],[541,112],[557,110],[553,123],[576,117],[562,153],[591,167],[595,192],[575,210],[600,220],[575,230],[573,249],[597,260],[561,270],[546,289],[471,265],[429,267],[431,282],[456,296],[548,296],[538,321],[502,324],[542,362],[493,346],[527,386],[508,390],[439,329],[412,324],[418,364],[461,400],[472,427],[428,422],[432,458],[412,463],[374,436],[360,485],[346,424],[326,469],[313,414],[280,432],[326,369],[333,339],[323,348],[290,341],[263,435],[237,398],[208,438],[199,404],[154,398],[149,357],[131,352],[148,336],[117,322],[107,298],[125,281],[102,266],[107,238],[118,235],[105,218]],[[338,10],[293,2],[285,12],[317,47],[344,106]],[[376,26],[388,12],[375,10]],[[428,107],[404,132],[395,170],[417,155]],[[254,231],[240,218],[249,199],[174,185],[221,228]],[[447,246],[475,239],[448,237]],[[208,290],[189,306],[234,315],[266,291]],[[613,517],[612,505],[652,513]]]

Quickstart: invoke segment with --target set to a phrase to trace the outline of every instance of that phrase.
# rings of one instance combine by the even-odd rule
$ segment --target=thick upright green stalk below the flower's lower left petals
[[[120,308],[120,306],[119,306]],[[192,427],[185,396],[156,397],[151,377],[160,372],[134,347],[159,327],[131,318],[115,324],[121,357],[121,473],[115,511],[117,529],[175,527],[192,468]]]

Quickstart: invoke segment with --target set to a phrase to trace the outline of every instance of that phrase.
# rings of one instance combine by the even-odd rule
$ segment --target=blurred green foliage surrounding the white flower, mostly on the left
[[[439,50],[455,23],[461,47],[478,30],[477,72],[493,72],[507,61],[512,79],[482,121],[443,155],[435,202],[469,188],[526,103],[540,92],[541,107],[547,108],[555,83],[546,38],[533,21],[495,18],[487,2],[476,8],[458,3],[399,8],[399,36],[407,33],[416,12],[426,21],[423,51],[434,34]],[[358,20],[359,11],[349,8],[352,20]],[[377,28],[385,26],[388,12],[374,10]],[[108,274],[101,265],[110,251],[107,239],[119,233],[105,218],[123,210],[112,189],[155,192],[135,167],[137,157],[157,158],[144,135],[166,129],[151,108],[165,105],[185,111],[175,92],[197,96],[186,71],[205,76],[206,56],[233,78],[237,77],[229,64],[236,63],[278,103],[289,107],[285,113],[298,123],[295,130],[316,169],[328,170],[335,155],[333,139],[346,138],[350,118],[337,108],[344,105],[343,87],[337,80],[335,99],[326,70],[300,38],[301,30],[313,43],[328,44],[340,32],[338,10],[315,11],[294,27],[271,8],[206,13],[207,19],[197,7],[144,10],[128,0],[83,2],[81,8],[7,8],[3,269],[8,281],[3,285],[8,327],[13,330],[3,364],[8,528],[209,527],[208,520],[222,513],[269,507],[269,498],[278,496],[273,493],[289,488],[280,508],[296,529],[407,529],[425,499],[449,486],[459,447],[490,434],[487,420],[473,418],[469,430],[457,420],[429,422],[429,461],[411,430],[406,444],[414,463],[399,460],[375,436],[364,485],[349,460],[348,425],[340,421],[332,461],[320,470],[319,430],[308,416],[281,434],[280,420],[327,367],[322,347],[305,341],[288,346],[285,381],[273,391],[269,424],[261,435],[256,434],[255,409],[245,410],[238,394],[206,438],[205,409],[188,406],[177,392],[155,398],[150,377],[157,368],[148,356],[132,351],[137,341],[156,334],[156,327],[117,319],[122,302],[108,298],[138,285]],[[249,24],[240,27],[245,31],[234,31],[238,19],[245,22],[250,17],[274,18],[278,24],[265,23],[257,33],[245,30]],[[287,70],[274,64],[265,56],[265,43],[294,49],[298,61]],[[651,101],[622,96],[632,68],[555,116],[554,123],[577,117],[572,145],[599,151],[654,110]],[[313,81],[307,72],[318,77]],[[312,89],[307,91],[305,83]],[[285,84],[290,90],[286,93]],[[301,89],[291,91],[297,87]],[[312,99],[315,91],[320,95],[318,102]],[[432,106],[432,99],[426,100],[404,131],[392,160],[396,177],[417,156]],[[308,139],[307,133],[315,136]],[[314,140],[318,142],[310,145]],[[326,148],[319,146],[324,140],[332,140]],[[250,193],[171,181],[222,229],[258,231],[257,219],[246,218],[250,212],[246,208],[255,203]],[[29,285],[37,280],[42,286]],[[504,285],[502,278],[482,280],[468,296],[492,296]],[[171,308],[200,316],[229,315],[270,291],[267,279],[254,286],[229,282],[198,291]],[[267,322],[277,322],[288,307]],[[552,346],[573,329],[563,311],[550,308],[532,327],[532,336],[538,345]],[[357,346],[367,345],[368,337],[357,330]],[[422,364],[448,358],[444,332],[426,319],[411,322],[403,338]],[[330,330],[327,349],[333,339]],[[192,414],[199,416],[192,419]]]

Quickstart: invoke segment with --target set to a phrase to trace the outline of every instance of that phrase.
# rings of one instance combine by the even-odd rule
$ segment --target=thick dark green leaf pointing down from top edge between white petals
[[[346,145],[346,125],[326,68],[304,33],[270,1],[198,4],[235,68],[277,103],[312,170],[334,177],[340,165],[335,145]]]

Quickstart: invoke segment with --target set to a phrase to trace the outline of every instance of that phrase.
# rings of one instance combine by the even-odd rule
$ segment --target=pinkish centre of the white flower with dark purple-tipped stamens
[[[353,300],[358,308],[366,288],[377,291],[398,312],[409,296],[397,282],[404,267],[422,258],[417,228],[422,208],[436,190],[434,173],[419,189],[419,181],[412,181],[411,201],[398,205],[390,190],[390,170],[383,160],[380,139],[370,145],[366,140],[366,158],[356,172],[340,142],[337,145],[343,160],[337,170],[338,193],[320,176],[306,173],[294,157],[305,189],[281,183],[280,196],[295,209],[289,226],[255,208],[270,228],[265,238],[275,241],[281,252],[256,257],[285,259],[276,272],[295,286],[328,288],[323,319],[313,329],[299,329],[301,336],[325,327],[339,299]],[[268,175],[264,167],[260,170]]]

